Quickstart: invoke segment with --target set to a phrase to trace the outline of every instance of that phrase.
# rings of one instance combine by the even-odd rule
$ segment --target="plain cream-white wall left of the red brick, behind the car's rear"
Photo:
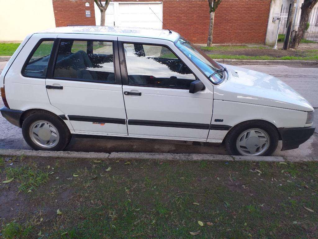
[[[0,41],[55,27],[52,0],[0,0]]]

